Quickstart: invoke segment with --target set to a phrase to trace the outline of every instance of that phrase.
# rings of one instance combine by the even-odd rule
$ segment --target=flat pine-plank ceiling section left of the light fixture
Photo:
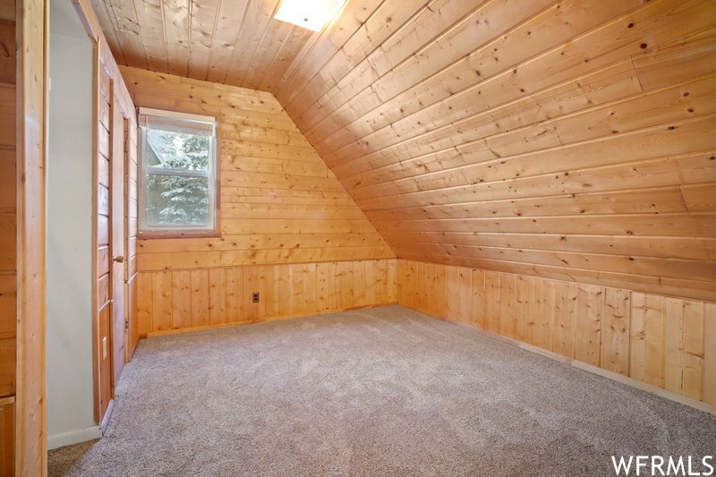
[[[312,31],[280,0],[92,0],[118,64],[272,91]]]

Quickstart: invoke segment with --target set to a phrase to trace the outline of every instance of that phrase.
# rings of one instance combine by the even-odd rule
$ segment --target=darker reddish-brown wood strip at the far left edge
[[[3,449],[0,451],[0,475],[14,473],[17,352],[16,102],[15,22],[0,20],[0,449]]]

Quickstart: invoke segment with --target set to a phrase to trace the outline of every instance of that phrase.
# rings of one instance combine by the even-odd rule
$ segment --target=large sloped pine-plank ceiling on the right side
[[[349,4],[276,96],[398,257],[716,300],[712,1]]]

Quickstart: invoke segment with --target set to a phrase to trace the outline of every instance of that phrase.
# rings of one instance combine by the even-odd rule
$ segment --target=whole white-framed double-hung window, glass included
[[[216,229],[216,120],[140,108],[140,232]]]

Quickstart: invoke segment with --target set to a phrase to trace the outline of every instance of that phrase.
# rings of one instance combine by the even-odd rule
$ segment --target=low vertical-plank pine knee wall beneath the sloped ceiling
[[[716,303],[398,260],[398,303],[716,405]]]

